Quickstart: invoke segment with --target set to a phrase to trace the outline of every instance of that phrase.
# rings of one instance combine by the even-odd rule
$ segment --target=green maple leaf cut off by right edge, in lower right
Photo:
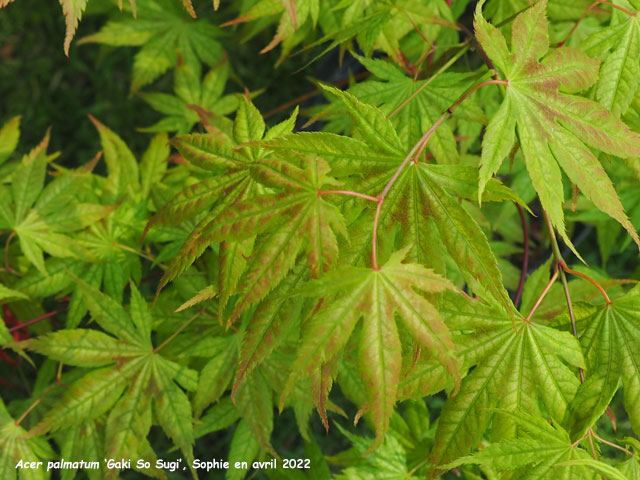
[[[580,305],[576,326],[588,373],[571,405],[571,434],[582,435],[595,423],[620,383],[631,426],[640,432],[640,288],[611,305]]]

